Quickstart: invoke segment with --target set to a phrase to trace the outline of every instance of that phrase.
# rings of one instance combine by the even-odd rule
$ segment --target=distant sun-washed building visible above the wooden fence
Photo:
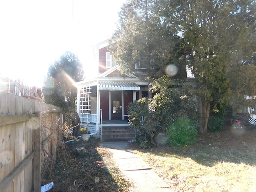
[[[1,91],[42,101],[41,88],[37,88],[36,86],[28,86],[24,80],[20,78],[12,80],[0,74],[0,92]]]

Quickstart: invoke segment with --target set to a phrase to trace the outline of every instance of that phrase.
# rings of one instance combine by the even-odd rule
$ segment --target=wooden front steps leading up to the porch
[[[102,142],[128,141],[134,139],[134,128],[131,128],[130,126],[102,126],[101,134]]]

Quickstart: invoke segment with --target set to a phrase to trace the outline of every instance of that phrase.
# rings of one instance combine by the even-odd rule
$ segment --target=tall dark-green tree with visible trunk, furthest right
[[[255,2],[252,0],[182,1],[179,12],[182,36],[189,52],[188,65],[193,69],[204,133],[210,113],[244,94],[252,94],[256,68],[252,58],[255,44]],[[248,73],[252,76],[248,76]],[[234,97],[236,95],[236,97]]]

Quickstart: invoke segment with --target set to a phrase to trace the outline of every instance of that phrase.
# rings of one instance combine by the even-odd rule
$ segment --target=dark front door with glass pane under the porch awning
[[[111,92],[111,119],[120,120],[122,119],[122,92],[112,91]]]

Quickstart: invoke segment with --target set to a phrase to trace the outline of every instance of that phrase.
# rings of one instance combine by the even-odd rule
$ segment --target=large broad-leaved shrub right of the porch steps
[[[174,86],[176,85],[176,86]],[[142,98],[128,106],[129,123],[138,130],[135,143],[142,148],[158,146],[156,136],[166,133],[178,118],[198,120],[197,100],[186,90],[182,81],[173,82],[168,76],[151,84],[152,98]]]

